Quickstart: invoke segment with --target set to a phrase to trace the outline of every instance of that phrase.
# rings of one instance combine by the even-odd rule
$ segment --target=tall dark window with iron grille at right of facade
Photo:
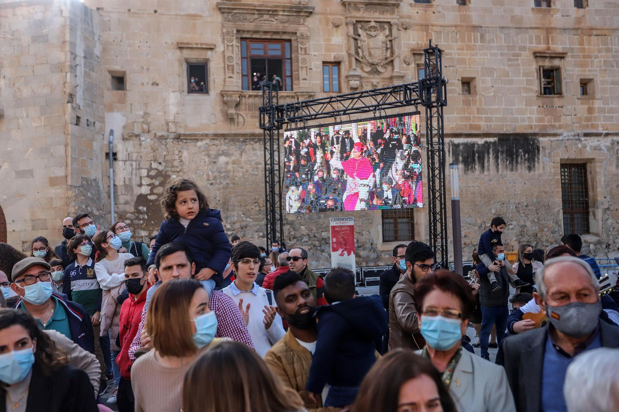
[[[561,165],[563,233],[589,233],[589,189],[586,163]]]

